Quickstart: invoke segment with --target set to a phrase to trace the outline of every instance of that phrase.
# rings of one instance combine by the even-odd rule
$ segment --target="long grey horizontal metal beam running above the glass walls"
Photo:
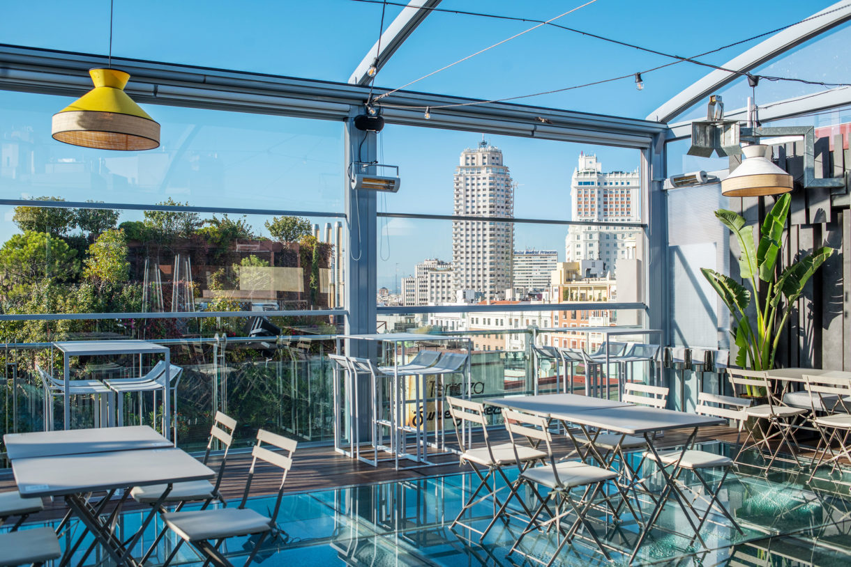
[[[0,89],[78,97],[91,88],[88,71],[107,65],[106,55],[78,54],[0,44]],[[195,65],[112,58],[129,72],[125,88],[140,103],[256,112],[346,121],[363,108],[369,88],[344,82],[280,77]],[[375,94],[389,88],[375,88]],[[647,148],[665,125],[658,122],[531,105],[482,102],[443,94],[397,91],[383,99],[390,124]],[[426,120],[421,107],[441,108]],[[405,108],[405,107],[418,108]],[[401,108],[399,108],[401,107]]]

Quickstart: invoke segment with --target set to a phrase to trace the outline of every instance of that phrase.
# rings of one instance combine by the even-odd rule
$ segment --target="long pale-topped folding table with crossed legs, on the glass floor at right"
[[[577,394],[550,394],[518,396],[514,398],[497,398],[485,400],[485,403],[500,407],[507,407],[517,411],[526,411],[527,413],[562,422],[564,428],[568,431],[570,439],[574,443],[576,453],[580,456],[580,459],[583,462],[585,462],[589,456],[593,456],[598,462],[605,462],[605,460],[594,448],[593,443],[588,444],[588,451],[585,451],[585,454],[583,454],[579,449],[580,443],[577,442],[574,434],[569,428],[570,425],[579,426],[586,439],[595,439],[596,436],[596,434],[589,428],[596,428],[597,431],[608,430],[616,434],[620,434],[620,441],[614,450],[616,453],[620,454],[623,454],[623,451],[620,450],[620,443],[623,442],[625,436],[641,435],[647,441],[648,451],[652,451],[654,455],[658,457],[659,454],[653,443],[655,432],[676,428],[692,428],[691,434],[688,435],[688,439],[683,444],[684,455],[685,451],[688,451],[688,449],[694,445],[694,436],[697,434],[699,428],[726,423],[725,419],[719,417],[701,416],[693,413],[685,413],[683,411],[662,410],[655,407],[625,404],[624,402],[601,400],[599,398],[591,398]],[[657,458],[656,462],[661,462],[661,460]],[[623,462],[622,464],[625,468],[630,466],[628,462]],[[665,484],[670,487],[671,493],[685,512],[686,505],[684,502],[680,501],[677,490],[674,490],[673,486],[673,479],[677,476],[676,470],[671,471],[671,473],[667,473],[664,468],[660,467],[660,471],[665,479]],[[635,475],[637,472],[631,470],[630,473],[631,475]],[[634,492],[635,484],[631,483],[629,488]],[[626,504],[631,508],[629,502],[626,502]],[[662,502],[662,504],[664,504],[664,502]],[[722,506],[720,502],[718,502],[718,505]],[[654,515],[651,515],[651,519],[654,518]],[[691,524],[692,529],[695,534],[697,534],[697,527],[688,516],[688,513],[686,513],[686,519],[688,519],[688,523]],[[639,519],[637,518],[637,520]],[[638,536],[637,544],[632,551],[630,561],[635,558],[638,549],[641,547],[652,527],[652,521],[643,524],[641,533]],[[697,535],[697,537],[700,538],[699,535]]]

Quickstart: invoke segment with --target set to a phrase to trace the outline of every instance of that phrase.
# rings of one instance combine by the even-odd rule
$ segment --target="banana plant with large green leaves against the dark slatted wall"
[[[739,241],[740,275],[742,280],[751,283],[751,289],[713,269],[701,268],[700,271],[733,315],[735,323],[730,333],[739,347],[736,364],[742,368],[774,368],[780,332],[792,307],[815,271],[836,252],[831,247],[820,247],[778,273],[777,258],[780,258],[783,249],[783,228],[789,216],[790,201],[791,197],[786,193],[774,203],[762,222],[759,241],[739,214],[724,209],[715,212],[715,216]],[[762,296],[760,281],[767,284]],[[754,303],[755,318],[747,313],[751,302]]]

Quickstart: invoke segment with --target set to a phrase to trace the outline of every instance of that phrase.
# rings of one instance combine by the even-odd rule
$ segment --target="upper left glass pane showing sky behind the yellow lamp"
[[[115,152],[51,138],[71,101],[0,92],[3,198],[342,211],[341,122],[146,105],[160,147]]]

